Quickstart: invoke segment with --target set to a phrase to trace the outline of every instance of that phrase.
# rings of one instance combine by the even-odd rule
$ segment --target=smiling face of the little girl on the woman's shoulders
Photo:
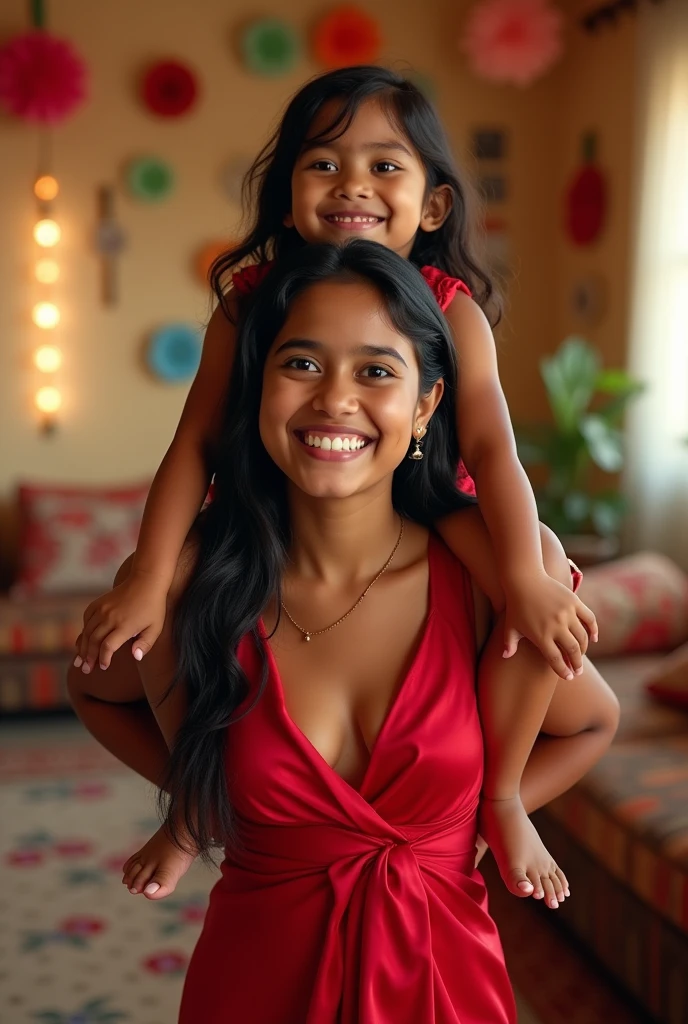
[[[311,134],[337,115],[326,104]],[[450,196],[426,196],[426,174],[408,139],[375,99],[358,109],[348,130],[331,142],[306,146],[292,175],[288,226],[305,242],[342,243],[365,238],[407,257],[419,230],[435,230]]]

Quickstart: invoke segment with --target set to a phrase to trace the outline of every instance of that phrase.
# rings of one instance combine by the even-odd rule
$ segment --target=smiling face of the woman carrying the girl
[[[348,498],[391,485],[442,389],[419,397],[414,346],[370,284],[325,282],[292,303],[268,352],[260,436],[299,489]]]

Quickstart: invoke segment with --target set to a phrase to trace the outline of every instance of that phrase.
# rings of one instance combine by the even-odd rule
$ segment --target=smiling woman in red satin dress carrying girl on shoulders
[[[474,867],[478,648],[505,690],[556,677],[529,642],[502,657],[503,622],[486,636],[466,565],[486,591],[499,578],[476,510],[463,564],[432,531],[467,503],[456,386],[449,329],[408,261],[362,241],[281,260],[246,310],[215,498],[140,666],[160,732],[122,685],[129,652],[113,682],[72,673],[87,726],[169,794],[131,888],[164,895],[225,846],[182,1024],[515,1022]],[[543,740],[526,800],[561,792],[613,734],[613,698],[585,678],[555,693],[552,732],[567,702],[579,728]],[[542,883],[564,899],[555,864]]]

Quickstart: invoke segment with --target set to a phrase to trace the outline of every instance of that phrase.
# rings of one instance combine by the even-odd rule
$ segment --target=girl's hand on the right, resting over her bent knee
[[[515,654],[525,637],[562,679],[580,675],[588,643],[597,640],[590,608],[544,571],[510,587],[506,597],[504,656]]]

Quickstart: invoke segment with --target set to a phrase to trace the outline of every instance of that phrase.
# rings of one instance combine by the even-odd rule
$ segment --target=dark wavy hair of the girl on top
[[[332,141],[349,128],[361,103],[375,97],[419,154],[430,193],[438,185],[451,189],[451,210],[436,231],[419,229],[411,253],[418,267],[429,264],[471,289],[476,302],[494,325],[500,317],[494,285],[474,250],[469,187],[451,156],[446,132],[430,100],[413,82],[386,68],[361,66],[326,72],[307,82],[292,98],[280,126],[258,154],[244,181],[244,207],[249,213],[246,237],[213,264],[210,280],[225,312],[227,279],[238,264],[281,259],[305,245],[294,227],[285,226],[292,209],[292,172],[304,142]],[[311,134],[313,119],[330,100],[341,100],[331,124]]]

